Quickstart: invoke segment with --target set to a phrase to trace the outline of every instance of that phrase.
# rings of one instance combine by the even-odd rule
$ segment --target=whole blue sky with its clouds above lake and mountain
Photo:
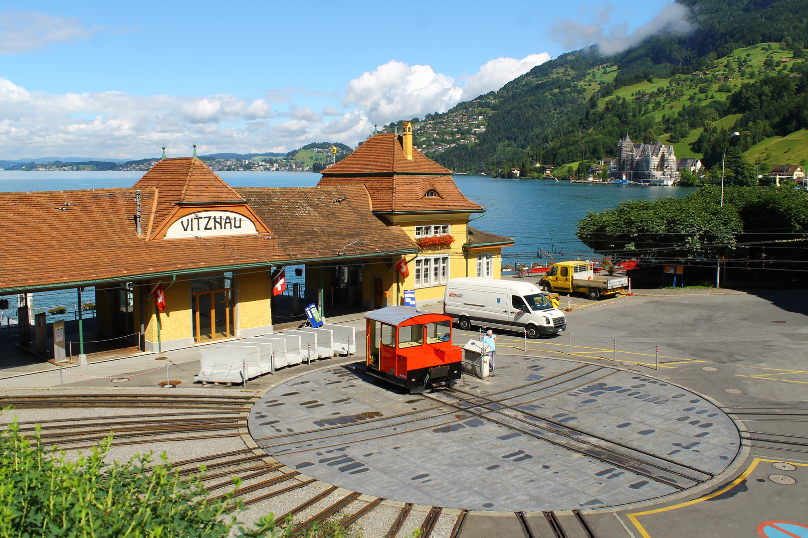
[[[6,2],[0,158],[355,145],[571,48],[632,44],[681,19],[669,4]]]

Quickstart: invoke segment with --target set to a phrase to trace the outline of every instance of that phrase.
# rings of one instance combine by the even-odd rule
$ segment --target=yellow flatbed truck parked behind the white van
[[[595,274],[588,261],[559,261],[541,277],[539,287],[549,292],[587,294],[593,301],[618,294],[629,286],[629,277]]]

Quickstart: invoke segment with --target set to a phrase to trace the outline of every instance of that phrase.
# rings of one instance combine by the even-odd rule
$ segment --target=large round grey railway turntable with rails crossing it
[[[713,487],[739,453],[708,399],[616,367],[497,357],[494,379],[389,390],[362,363],[268,390],[250,436],[307,477],[401,503],[584,510]]]

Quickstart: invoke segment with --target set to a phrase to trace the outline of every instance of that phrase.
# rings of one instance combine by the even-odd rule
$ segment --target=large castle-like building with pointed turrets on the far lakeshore
[[[649,185],[671,186],[679,181],[673,146],[654,142],[634,144],[628,135],[618,144],[619,156],[609,167],[609,178]]]

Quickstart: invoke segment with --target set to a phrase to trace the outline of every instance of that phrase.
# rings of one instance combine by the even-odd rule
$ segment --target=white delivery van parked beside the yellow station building
[[[464,331],[485,325],[516,332],[527,329],[528,337],[538,338],[566,329],[564,313],[530,282],[450,278],[444,314],[451,315]]]

